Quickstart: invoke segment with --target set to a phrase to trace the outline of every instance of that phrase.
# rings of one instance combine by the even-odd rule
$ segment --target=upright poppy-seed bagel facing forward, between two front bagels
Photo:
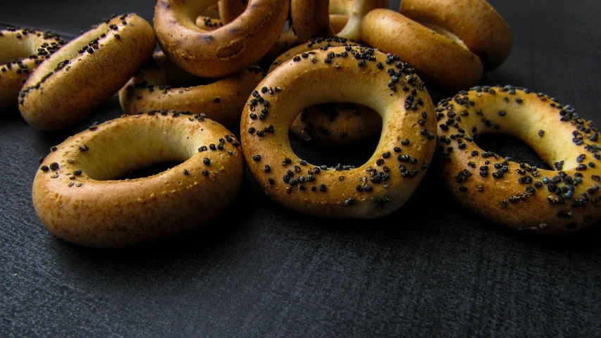
[[[295,211],[349,218],[383,216],[409,199],[435,149],[434,107],[414,70],[407,64],[387,70],[386,58],[357,46],[318,49],[265,77],[244,108],[241,139],[250,172],[266,194]],[[359,168],[321,168],[292,151],[288,130],[299,111],[332,101],[368,106],[382,116],[376,152]]]

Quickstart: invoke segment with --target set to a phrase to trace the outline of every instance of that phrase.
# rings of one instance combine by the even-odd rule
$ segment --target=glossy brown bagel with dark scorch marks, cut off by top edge
[[[161,49],[173,63],[199,77],[240,73],[259,61],[282,32],[289,6],[288,1],[250,0],[228,25],[202,30],[196,19],[214,2],[159,0],[154,12]]]

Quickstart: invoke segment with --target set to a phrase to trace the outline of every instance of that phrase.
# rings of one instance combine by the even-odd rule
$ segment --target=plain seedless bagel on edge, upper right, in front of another
[[[374,9],[361,22],[361,38],[375,48],[397,54],[416,72],[447,89],[477,84],[483,65],[462,44],[389,9]]]

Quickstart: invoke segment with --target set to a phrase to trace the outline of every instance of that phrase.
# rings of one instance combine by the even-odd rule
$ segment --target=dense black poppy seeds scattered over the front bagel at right
[[[599,175],[585,175],[587,168],[595,168],[597,165],[595,162],[601,159],[601,148],[597,144],[592,143],[597,142],[599,136],[597,128],[592,121],[585,122],[571,106],[562,106],[556,99],[545,94],[535,94],[528,89],[520,87],[474,87],[471,91],[473,93],[459,92],[453,98],[441,101],[435,109],[437,120],[439,122],[444,121],[439,125],[442,134],[440,136],[439,149],[442,153],[443,161],[452,161],[452,152],[455,147],[457,149],[465,149],[466,142],[473,142],[479,135],[476,127],[466,131],[459,124],[461,123],[462,116],[469,115],[468,108],[471,111],[473,111],[473,108],[476,108],[476,103],[469,97],[470,94],[475,93],[478,97],[483,95],[505,95],[503,101],[507,103],[515,102],[516,104],[523,103],[523,97],[519,97],[519,94],[536,95],[540,101],[549,102],[551,107],[557,109],[559,122],[569,123],[574,127],[572,142],[583,149],[583,153],[579,154],[576,158],[576,162],[580,164],[577,165],[575,169],[576,173],[572,176],[562,171],[564,161],[557,161],[553,163],[557,175],[542,177],[536,166],[528,165],[528,163],[519,163],[519,168],[515,172],[518,174],[517,182],[523,186],[523,190],[502,199],[499,202],[499,207],[508,208],[510,204],[526,200],[528,196],[534,194],[547,194],[548,204],[557,205],[556,216],[558,218],[572,218],[574,216],[574,209],[586,206],[589,203],[597,207],[601,206],[601,198],[595,196],[600,187],[598,182],[601,180],[601,177]],[[500,129],[500,125],[486,118],[483,111],[480,109],[476,109],[475,111],[486,127]],[[500,118],[503,118],[506,114],[505,111],[498,112]],[[456,130],[457,133],[449,134],[451,128]],[[449,135],[447,136],[447,134]],[[545,130],[538,131],[538,137],[546,137],[546,135]],[[458,189],[460,192],[469,191],[470,188],[466,182],[471,180],[469,177],[473,175],[472,173],[475,170],[478,170],[478,174],[481,177],[492,177],[493,180],[503,177],[509,170],[510,158],[501,158],[490,151],[480,153],[478,151],[471,151],[470,155],[472,159],[466,163],[469,168],[461,170],[455,176],[455,182],[459,184]],[[590,182],[588,179],[593,182]],[[585,192],[581,192],[579,195],[576,193],[578,185],[585,187]],[[476,185],[476,190],[478,192],[484,191],[481,184]],[[569,223],[566,225],[566,228],[577,227],[580,221],[588,223],[592,220],[592,216],[584,215],[582,220]],[[547,227],[548,225],[542,224],[528,230],[543,230]]]

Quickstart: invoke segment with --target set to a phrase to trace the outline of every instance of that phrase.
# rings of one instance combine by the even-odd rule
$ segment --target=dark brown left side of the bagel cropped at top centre
[[[333,37],[330,27],[329,1],[292,0],[292,23],[300,43],[315,37]]]

